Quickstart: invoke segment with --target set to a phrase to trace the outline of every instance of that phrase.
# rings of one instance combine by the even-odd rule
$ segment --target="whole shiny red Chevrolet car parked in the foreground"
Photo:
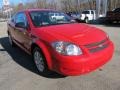
[[[40,73],[48,70],[65,76],[88,73],[107,63],[114,50],[102,30],[47,9],[16,13],[8,22],[8,37],[12,46],[18,45],[33,56]]]

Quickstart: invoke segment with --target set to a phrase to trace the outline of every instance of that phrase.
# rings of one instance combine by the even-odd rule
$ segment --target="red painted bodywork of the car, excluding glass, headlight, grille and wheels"
[[[22,36],[22,33],[19,35],[15,34],[15,30],[13,30],[11,26],[8,26],[8,31],[13,39],[17,40],[17,42],[21,44],[21,47],[29,52],[31,51],[32,43],[38,45],[46,57],[48,68],[50,70],[54,70],[63,75],[81,75],[98,69],[111,59],[114,46],[112,41],[102,30],[80,23],[43,26],[38,28],[33,25],[29,15],[30,11],[36,10],[40,11],[39,9],[23,11],[27,16],[30,26],[29,30],[26,31],[26,35]],[[11,22],[9,22],[9,24],[13,25]],[[91,53],[89,49],[98,46],[91,48],[86,47],[88,44],[99,43],[106,38],[108,46],[100,51]],[[61,55],[51,46],[51,43],[55,41],[74,43],[82,49],[83,54],[79,56]],[[106,42],[102,44],[105,44]]]

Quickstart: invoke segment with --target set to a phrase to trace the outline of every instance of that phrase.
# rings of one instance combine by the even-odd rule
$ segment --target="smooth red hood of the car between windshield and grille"
[[[106,33],[102,30],[88,26],[87,24],[79,23],[46,26],[40,28],[40,30],[54,36],[57,40],[64,41],[64,37],[67,40],[79,45],[99,42],[106,38]]]

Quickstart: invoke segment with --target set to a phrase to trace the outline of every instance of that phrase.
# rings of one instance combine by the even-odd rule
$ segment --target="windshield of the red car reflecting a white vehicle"
[[[36,27],[75,22],[68,15],[57,11],[32,11],[30,12],[30,16]]]

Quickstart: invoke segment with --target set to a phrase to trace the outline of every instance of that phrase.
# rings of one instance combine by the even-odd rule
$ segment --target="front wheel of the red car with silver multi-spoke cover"
[[[39,47],[35,47],[33,49],[32,58],[39,73],[42,75],[47,75],[49,73],[47,62],[44,54],[42,53]]]

